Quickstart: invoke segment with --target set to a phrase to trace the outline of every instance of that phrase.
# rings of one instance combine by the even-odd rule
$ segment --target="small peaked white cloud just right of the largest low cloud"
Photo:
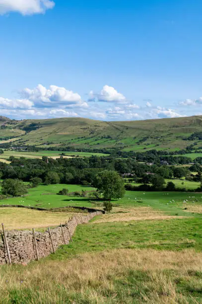
[[[122,93],[119,93],[113,86],[109,85],[104,85],[99,93],[90,91],[88,101],[95,100],[120,104],[128,103],[126,97]]]

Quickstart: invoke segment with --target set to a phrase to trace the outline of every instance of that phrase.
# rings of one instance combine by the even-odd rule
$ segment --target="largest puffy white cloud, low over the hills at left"
[[[59,87],[57,85],[50,85],[49,88],[46,88],[42,84],[38,84],[37,87],[33,89],[25,88],[19,91],[19,93],[23,98],[31,100],[39,107],[59,105],[65,107],[87,106],[87,103],[81,100],[81,96],[78,93],[74,93],[65,87]]]

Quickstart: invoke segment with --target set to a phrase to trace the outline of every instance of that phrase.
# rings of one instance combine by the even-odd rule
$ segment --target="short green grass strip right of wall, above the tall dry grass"
[[[73,242],[47,259],[66,259],[76,254],[112,249],[202,250],[201,219],[172,219],[96,223],[78,226]]]

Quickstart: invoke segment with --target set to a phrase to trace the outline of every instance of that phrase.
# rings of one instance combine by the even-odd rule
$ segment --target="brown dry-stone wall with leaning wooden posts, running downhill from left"
[[[97,210],[91,213],[73,216],[69,222],[62,225],[65,236],[65,242],[68,244],[70,235],[73,235],[75,228],[79,224],[88,223],[96,215],[103,214],[103,211]],[[50,229],[53,238],[54,248],[64,244],[62,228],[59,226]],[[69,235],[70,232],[70,235]],[[39,258],[48,256],[53,252],[53,246],[49,231],[35,232],[36,243],[38,248]],[[11,263],[28,263],[31,260],[36,260],[36,248],[34,245],[34,235],[32,231],[6,231],[8,247],[10,251]],[[5,240],[2,231],[0,232],[0,264],[8,263],[8,255],[5,247]]]

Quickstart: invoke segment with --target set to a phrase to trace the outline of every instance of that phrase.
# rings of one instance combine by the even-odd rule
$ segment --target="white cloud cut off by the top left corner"
[[[0,0],[0,14],[16,11],[22,15],[42,14],[55,6],[52,0]]]

